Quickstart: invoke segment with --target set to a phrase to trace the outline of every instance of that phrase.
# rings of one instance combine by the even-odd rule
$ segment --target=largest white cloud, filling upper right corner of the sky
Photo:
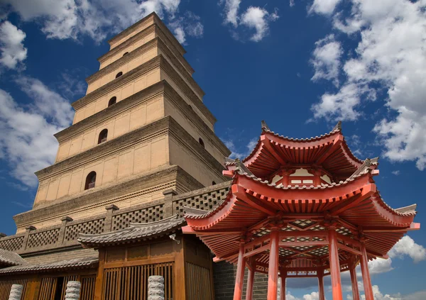
[[[351,0],[350,16],[336,13],[334,26],[344,33],[359,33],[354,55],[344,61],[346,82],[324,96],[337,106],[322,107],[315,117],[355,120],[366,91],[386,91],[391,110],[374,127],[383,155],[393,161],[413,160],[426,167],[426,1]],[[342,98],[351,87],[349,97]],[[334,101],[333,101],[334,99]]]

